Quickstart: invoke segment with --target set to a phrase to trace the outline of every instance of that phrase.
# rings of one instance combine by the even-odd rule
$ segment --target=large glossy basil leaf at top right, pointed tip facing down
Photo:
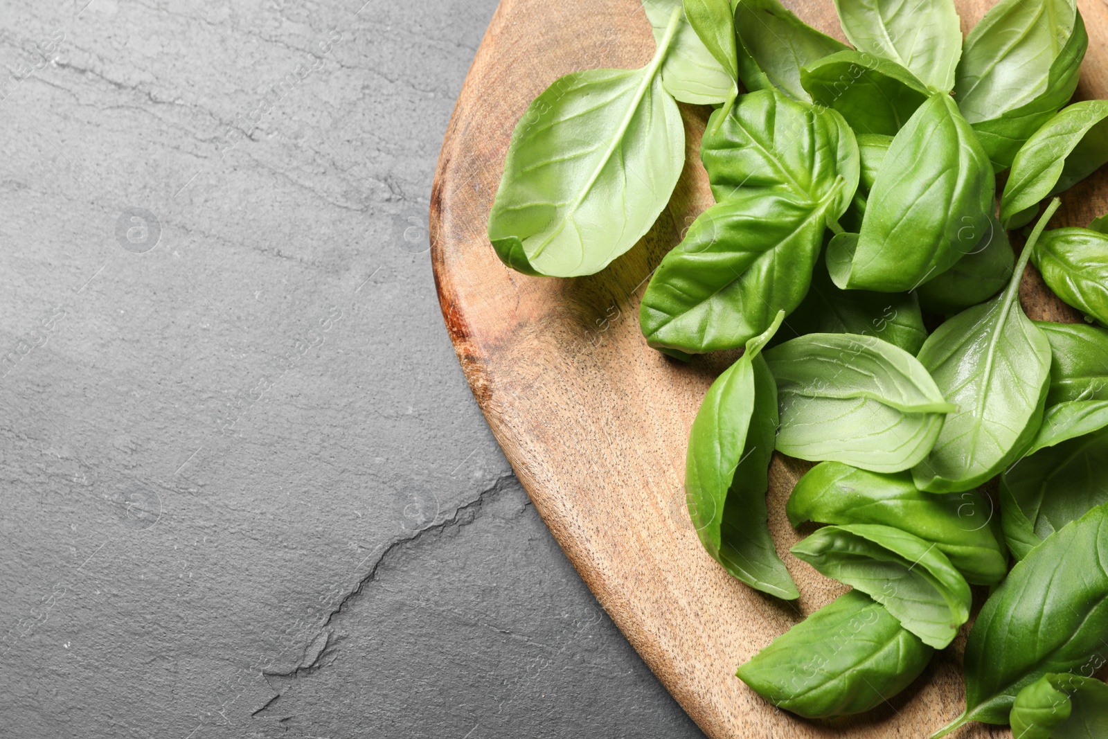
[[[1074,0],[1001,0],[966,37],[958,107],[997,171],[1069,102],[1088,44]]]

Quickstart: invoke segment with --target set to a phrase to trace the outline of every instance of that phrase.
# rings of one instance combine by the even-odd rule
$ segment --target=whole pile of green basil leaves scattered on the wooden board
[[[1066,106],[1088,45],[1075,1],[1001,0],[963,39],[953,0],[835,0],[853,48],[778,0],[644,7],[646,66],[568,74],[521,119],[489,237],[529,275],[603,269],[667,206],[677,101],[717,106],[716,205],[640,307],[676,358],[745,348],[693,424],[689,513],[728,572],[796,598],[768,468],[774,449],[820,462],[788,515],[828,525],[792,553],[853,588],[738,676],[801,716],[869,710],[983,585],[966,710],[935,736],[1108,737],[1089,679],[1108,658],[1108,217],[1045,230],[1057,198],[1039,215],[1108,162],[1108,101]],[[1007,230],[1036,219],[1017,261]],[[1028,260],[1089,325],[1024,315]],[[924,312],[946,320],[929,333]],[[1001,516],[979,491],[997,475]]]

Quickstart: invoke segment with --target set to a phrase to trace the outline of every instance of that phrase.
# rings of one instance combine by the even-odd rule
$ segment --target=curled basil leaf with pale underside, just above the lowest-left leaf
[[[943,649],[970,619],[973,594],[934,544],[893,526],[824,526],[792,547],[817,572],[883,605],[901,626]]]

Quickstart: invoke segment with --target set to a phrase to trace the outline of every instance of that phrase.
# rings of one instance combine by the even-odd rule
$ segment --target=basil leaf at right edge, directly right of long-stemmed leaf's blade
[[[1048,406],[1067,400],[1108,400],[1108,330],[1085,324],[1036,321],[1050,342]]]

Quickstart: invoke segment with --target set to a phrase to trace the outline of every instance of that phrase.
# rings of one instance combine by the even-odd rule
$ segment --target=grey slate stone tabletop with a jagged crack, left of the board
[[[493,0],[0,3],[0,737],[699,736],[427,253]]]

